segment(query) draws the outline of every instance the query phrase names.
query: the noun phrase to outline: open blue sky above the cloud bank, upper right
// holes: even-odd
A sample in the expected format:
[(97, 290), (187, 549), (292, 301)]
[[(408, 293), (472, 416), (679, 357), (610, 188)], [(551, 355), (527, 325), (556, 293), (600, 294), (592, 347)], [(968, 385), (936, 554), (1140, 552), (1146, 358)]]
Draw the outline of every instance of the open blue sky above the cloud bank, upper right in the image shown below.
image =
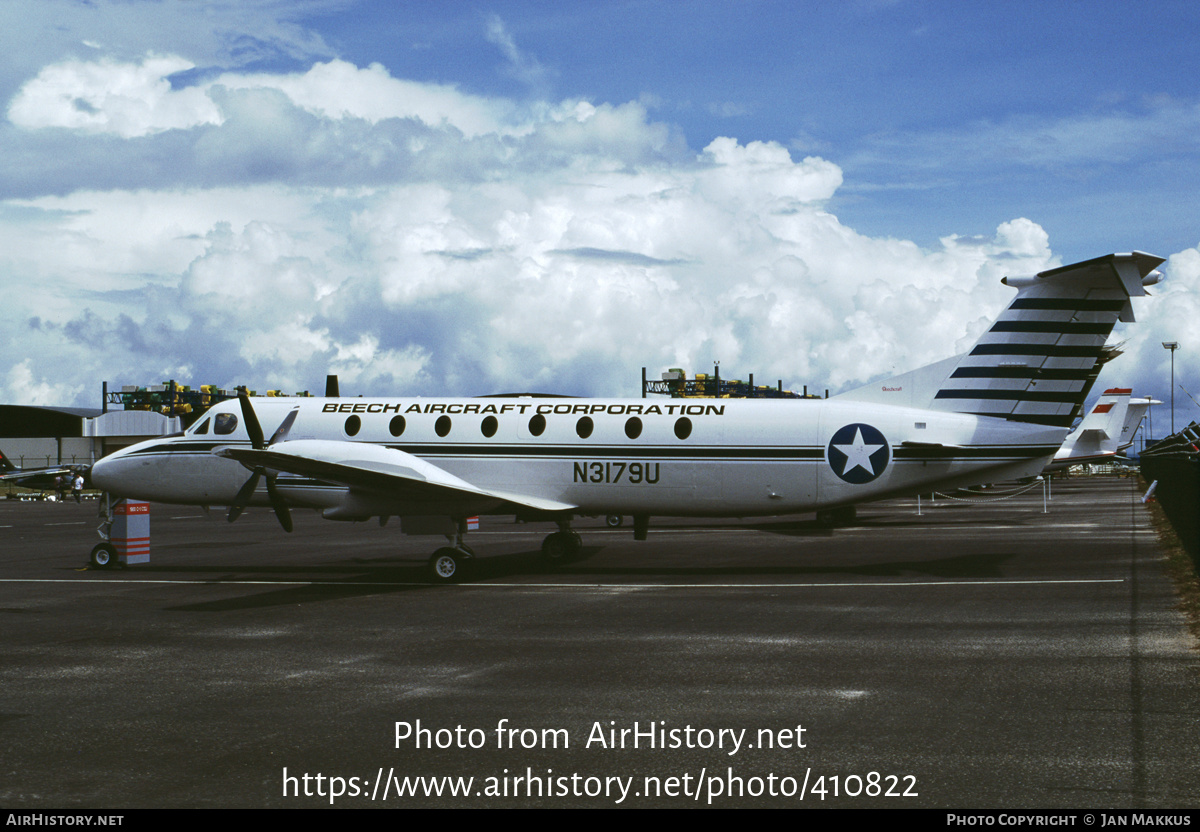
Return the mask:
[[(643, 100), (692, 146), (732, 134), (822, 155), (847, 175), (832, 208), (872, 235), (932, 245), (1037, 209), (1068, 261), (1196, 243), (1195, 4), (463, 4), (365, 23), (391, 7), (323, 34), (408, 78)], [(533, 78), (481, 48), (491, 14)]]

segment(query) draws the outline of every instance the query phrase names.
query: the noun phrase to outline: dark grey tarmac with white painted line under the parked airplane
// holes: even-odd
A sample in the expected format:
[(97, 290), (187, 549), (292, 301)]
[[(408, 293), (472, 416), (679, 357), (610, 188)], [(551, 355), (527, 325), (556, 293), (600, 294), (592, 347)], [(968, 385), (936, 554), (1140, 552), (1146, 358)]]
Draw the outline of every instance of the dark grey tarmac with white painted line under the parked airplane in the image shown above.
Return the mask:
[[(0, 807), (1200, 808), (1200, 653), (1132, 479), (769, 520), (0, 502)], [(628, 521), (626, 521), (628, 523)], [(440, 792), (440, 794), (438, 794)]]

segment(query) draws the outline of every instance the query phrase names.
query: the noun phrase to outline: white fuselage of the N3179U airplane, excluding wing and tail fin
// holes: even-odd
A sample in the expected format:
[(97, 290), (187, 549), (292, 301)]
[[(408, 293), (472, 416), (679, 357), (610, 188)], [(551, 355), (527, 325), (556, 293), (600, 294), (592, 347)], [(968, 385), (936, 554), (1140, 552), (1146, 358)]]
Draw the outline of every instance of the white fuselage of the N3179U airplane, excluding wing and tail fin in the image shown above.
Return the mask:
[[(1066, 433), (836, 399), (256, 399), (253, 406), (268, 432), (299, 408), (284, 445), (323, 443), (347, 459), (396, 449), (473, 486), (569, 504), (575, 514), (778, 515), (934, 484), (1000, 481), (1040, 472)], [(218, 405), (184, 435), (101, 460), (92, 480), (125, 497), (230, 504), (247, 469), (214, 450), (250, 445), (240, 415), (236, 401)], [(277, 486), (293, 505), (336, 509), (352, 501), (344, 485), (295, 473), (280, 473)], [(365, 515), (454, 513), (354, 491)], [(252, 503), (268, 504), (265, 487)], [(496, 499), (472, 508), (512, 513)]]

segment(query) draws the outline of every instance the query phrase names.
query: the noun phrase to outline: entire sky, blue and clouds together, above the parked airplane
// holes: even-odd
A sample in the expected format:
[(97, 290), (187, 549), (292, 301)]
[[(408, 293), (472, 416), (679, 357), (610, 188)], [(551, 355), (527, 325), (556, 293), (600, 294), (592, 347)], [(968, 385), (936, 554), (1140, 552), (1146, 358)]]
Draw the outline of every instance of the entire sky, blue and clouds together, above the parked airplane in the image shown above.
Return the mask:
[(8, 2), (0, 393), (847, 389), (1133, 249), (1195, 390), (1198, 10)]

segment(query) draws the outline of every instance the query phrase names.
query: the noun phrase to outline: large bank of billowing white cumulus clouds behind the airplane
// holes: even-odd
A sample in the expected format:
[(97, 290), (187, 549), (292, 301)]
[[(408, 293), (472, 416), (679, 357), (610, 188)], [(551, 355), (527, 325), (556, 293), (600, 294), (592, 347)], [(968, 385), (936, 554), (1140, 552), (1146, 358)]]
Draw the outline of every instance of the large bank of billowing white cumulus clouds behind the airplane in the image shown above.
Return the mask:
[[(11, 103), (10, 130), (73, 137), (110, 179), (0, 204), (0, 336), (40, 357), (10, 400), (326, 372), (365, 394), (636, 394), (641, 366), (714, 360), (839, 390), (960, 352), (1001, 276), (1060, 264), (1024, 217), (934, 247), (860, 234), (829, 210), (838, 164), (691, 150), (637, 102), (516, 104), (337, 60), (175, 89), (185, 64), (53, 65)], [(1170, 271), (1200, 282), (1200, 253)], [(1166, 298), (1147, 315), (1182, 325)]]

